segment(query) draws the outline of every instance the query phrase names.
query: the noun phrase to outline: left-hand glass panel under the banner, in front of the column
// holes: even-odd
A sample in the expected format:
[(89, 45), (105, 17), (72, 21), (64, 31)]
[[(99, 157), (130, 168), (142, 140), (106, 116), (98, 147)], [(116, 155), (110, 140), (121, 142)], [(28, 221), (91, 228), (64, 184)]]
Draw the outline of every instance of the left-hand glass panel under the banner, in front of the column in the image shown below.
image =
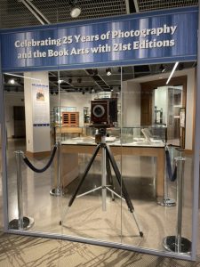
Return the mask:
[[(4, 113), (7, 135), (7, 182), (9, 228), (41, 232), (59, 232), (59, 198), (52, 199), (55, 170), (33, 171), (47, 165), (54, 147), (52, 95), (47, 71), (4, 74)], [(55, 81), (57, 83), (57, 80)], [(56, 91), (57, 95), (59, 89)], [(52, 101), (52, 97), (55, 97)], [(22, 151), (22, 152), (20, 152)], [(17, 159), (20, 157), (20, 170)], [(18, 173), (19, 171), (19, 173)], [(18, 175), (20, 174), (20, 175)], [(23, 224), (19, 226), (20, 219)]]

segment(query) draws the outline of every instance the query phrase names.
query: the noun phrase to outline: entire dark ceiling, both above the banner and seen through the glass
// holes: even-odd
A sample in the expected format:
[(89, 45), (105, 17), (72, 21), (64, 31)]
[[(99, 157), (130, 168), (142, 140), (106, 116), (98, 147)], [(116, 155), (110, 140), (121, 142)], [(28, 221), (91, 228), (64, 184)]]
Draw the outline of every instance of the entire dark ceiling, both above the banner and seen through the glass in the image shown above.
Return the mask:
[[(70, 17), (72, 4), (81, 7), (78, 18)], [(28, 5), (30, 4), (30, 5)], [(31, 5), (32, 4), (32, 5)], [(172, 7), (197, 5), (198, 0), (1, 0), (0, 28), (18, 28), (25, 26), (52, 24), (72, 20), (87, 20), (108, 16), (124, 15), (134, 12), (147, 12)], [(28, 7), (29, 6), (29, 7)], [(32, 6), (32, 9), (30, 9)], [(34, 9), (33, 9), (34, 6)], [(194, 67), (194, 62), (179, 64), (179, 69)], [(170, 72), (173, 64), (158, 64), (145, 66), (131, 66), (122, 69), (122, 79), (155, 75)], [(49, 72), (51, 93), (61, 92), (91, 93), (97, 91), (120, 90), (121, 69), (111, 68), (112, 75), (107, 76), (106, 69), (79, 69)], [(18, 74), (19, 75), (19, 74)], [(23, 76), (23, 74), (20, 74)], [(10, 83), (14, 78), (15, 84)], [(58, 83), (58, 80), (62, 82)], [(6, 91), (23, 91), (23, 78), (4, 75), (4, 89)]]

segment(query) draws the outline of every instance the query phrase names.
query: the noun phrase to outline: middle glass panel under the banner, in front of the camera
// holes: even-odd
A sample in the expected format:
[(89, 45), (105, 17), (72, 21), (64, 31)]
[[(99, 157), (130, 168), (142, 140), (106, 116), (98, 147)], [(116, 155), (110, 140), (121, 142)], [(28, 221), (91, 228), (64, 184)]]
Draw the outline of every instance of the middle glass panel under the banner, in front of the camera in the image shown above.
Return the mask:
[(116, 146), (111, 160), (120, 167), (120, 68), (112, 76), (106, 68), (65, 70), (60, 79), (63, 234), (119, 243), (121, 176), (107, 148)]

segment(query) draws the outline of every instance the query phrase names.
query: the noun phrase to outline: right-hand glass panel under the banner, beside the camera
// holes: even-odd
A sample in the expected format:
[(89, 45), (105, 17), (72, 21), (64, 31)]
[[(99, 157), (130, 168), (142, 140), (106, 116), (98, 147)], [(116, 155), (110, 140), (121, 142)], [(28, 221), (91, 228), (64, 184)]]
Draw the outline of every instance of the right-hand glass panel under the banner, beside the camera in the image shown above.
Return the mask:
[[(122, 242), (187, 253), (193, 196), (193, 137), (187, 117), (194, 116), (195, 69), (192, 62), (181, 64), (184, 70), (166, 84), (174, 64), (163, 65), (164, 72), (160, 65), (123, 68), (122, 179), (136, 218), (122, 209)], [(186, 239), (179, 243), (177, 236)]]

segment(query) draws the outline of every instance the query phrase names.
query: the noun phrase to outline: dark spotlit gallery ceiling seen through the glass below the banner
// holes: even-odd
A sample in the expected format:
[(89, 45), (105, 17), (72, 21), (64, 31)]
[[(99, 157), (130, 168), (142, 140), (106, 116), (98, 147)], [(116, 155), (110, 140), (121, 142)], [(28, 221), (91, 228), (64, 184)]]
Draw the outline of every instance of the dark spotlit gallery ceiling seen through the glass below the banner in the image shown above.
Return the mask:
[[(50, 93), (97, 93), (97, 92), (120, 92), (121, 82), (131, 80), (137, 77), (160, 75), (171, 73), (174, 64), (156, 64), (156, 65), (141, 65), (127, 67), (112, 67), (111, 75), (107, 75), (108, 68), (100, 69), (76, 69), (76, 70), (60, 70), (49, 72)], [(196, 62), (181, 62), (177, 70), (190, 69), (196, 66)], [(23, 76), (23, 73), (17, 73)], [(11, 79), (14, 79), (12, 85)], [(4, 74), (4, 90), (7, 92), (23, 92), (24, 78), (13, 77)]]

